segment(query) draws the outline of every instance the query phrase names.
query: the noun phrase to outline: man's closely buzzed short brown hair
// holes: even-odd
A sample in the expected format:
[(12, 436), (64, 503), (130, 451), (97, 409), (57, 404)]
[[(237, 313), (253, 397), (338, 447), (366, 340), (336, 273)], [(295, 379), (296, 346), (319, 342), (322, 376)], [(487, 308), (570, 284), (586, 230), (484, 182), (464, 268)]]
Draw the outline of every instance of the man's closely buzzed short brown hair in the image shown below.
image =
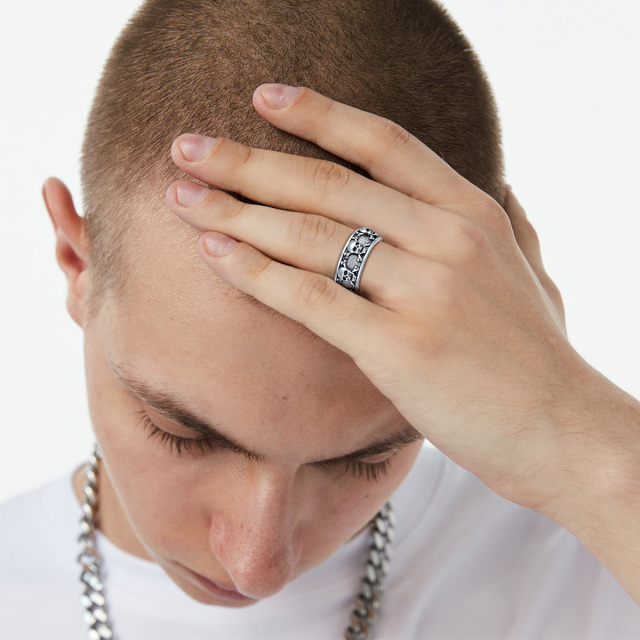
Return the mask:
[(491, 90), (437, 2), (147, 0), (113, 47), (84, 139), (93, 297), (122, 286), (144, 211), (162, 206), (181, 177), (169, 157), (179, 134), (339, 161), (255, 113), (251, 96), (264, 82), (311, 87), (389, 118), (503, 200)]

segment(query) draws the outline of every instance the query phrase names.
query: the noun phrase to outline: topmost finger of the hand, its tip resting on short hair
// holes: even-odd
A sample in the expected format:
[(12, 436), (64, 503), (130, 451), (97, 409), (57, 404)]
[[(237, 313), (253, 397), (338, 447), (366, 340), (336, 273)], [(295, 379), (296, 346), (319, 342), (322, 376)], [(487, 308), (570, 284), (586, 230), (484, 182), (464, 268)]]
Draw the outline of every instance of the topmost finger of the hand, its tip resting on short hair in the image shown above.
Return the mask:
[(253, 104), (279, 129), (314, 142), (362, 167), (377, 182), (412, 198), (455, 204), (471, 200), (479, 192), (399, 125), (311, 89), (261, 85)]

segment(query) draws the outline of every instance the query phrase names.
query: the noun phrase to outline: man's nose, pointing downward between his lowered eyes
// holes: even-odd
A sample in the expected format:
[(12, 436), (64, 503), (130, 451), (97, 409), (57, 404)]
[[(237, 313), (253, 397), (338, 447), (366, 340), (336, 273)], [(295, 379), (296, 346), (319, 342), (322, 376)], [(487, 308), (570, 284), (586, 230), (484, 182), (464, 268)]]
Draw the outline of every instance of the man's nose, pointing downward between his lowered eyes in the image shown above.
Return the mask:
[(291, 579), (300, 557), (293, 478), (252, 465), (211, 516), (211, 549), (236, 589), (267, 598)]

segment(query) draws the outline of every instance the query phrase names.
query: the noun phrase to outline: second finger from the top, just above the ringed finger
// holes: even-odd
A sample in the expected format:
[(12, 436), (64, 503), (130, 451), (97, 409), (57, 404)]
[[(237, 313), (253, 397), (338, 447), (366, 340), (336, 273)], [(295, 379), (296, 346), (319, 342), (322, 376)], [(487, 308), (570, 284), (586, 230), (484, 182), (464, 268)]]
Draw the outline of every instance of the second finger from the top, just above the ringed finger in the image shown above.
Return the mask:
[(424, 244), (433, 237), (441, 215), (430, 205), (326, 160), (194, 134), (178, 137), (172, 156), (181, 169), (219, 189), (280, 209), (329, 216), (352, 229), (367, 226), (395, 246)]

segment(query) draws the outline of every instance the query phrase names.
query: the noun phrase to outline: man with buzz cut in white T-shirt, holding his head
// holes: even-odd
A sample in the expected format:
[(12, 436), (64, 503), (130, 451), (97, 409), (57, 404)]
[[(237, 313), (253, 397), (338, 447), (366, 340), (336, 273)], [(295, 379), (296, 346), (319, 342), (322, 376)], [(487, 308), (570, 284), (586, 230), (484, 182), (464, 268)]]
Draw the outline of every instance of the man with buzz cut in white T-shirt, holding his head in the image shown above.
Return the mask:
[[(260, 87), (263, 122), (247, 96), (265, 75), (401, 122), (483, 191), (389, 121), (306, 89)], [(207, 135), (324, 155), (266, 122), (352, 170)], [(178, 138), (174, 166), (165, 151), (185, 131), (198, 135)], [(174, 182), (173, 217), (163, 195), (176, 166), (224, 191)], [(617, 516), (604, 497), (619, 471), (632, 505), (637, 403), (566, 342), (500, 167), (486, 84), (431, 3), (146, 3), (90, 118), (86, 223), (60, 182), (45, 187), (86, 336), (102, 461), (97, 482), (80, 472), (74, 485), (89, 533), (99, 519), (103, 572), (85, 556), (81, 585), (68, 561), (79, 507), (64, 485), (6, 506), (15, 525), (3, 548), (31, 554), (26, 567), (24, 554), (3, 559), (7, 634), (328, 638), (350, 626), (359, 637), (374, 618), (366, 585), (384, 578), (394, 495), (395, 557), (372, 635), (632, 637), (638, 609), (593, 557), (480, 482), (574, 525), (635, 592), (634, 572), (602, 550), (624, 536), (605, 522), (589, 535), (584, 493), (603, 520)], [(354, 295), (333, 272), (368, 225), (384, 243), (354, 238), (347, 262), (367, 258)], [(423, 450), (425, 436), (480, 480)], [(80, 587), (84, 621), (70, 603)], [(350, 620), (360, 592), (356, 609), (372, 610)], [(46, 607), (41, 627), (25, 623), (34, 601)]]

